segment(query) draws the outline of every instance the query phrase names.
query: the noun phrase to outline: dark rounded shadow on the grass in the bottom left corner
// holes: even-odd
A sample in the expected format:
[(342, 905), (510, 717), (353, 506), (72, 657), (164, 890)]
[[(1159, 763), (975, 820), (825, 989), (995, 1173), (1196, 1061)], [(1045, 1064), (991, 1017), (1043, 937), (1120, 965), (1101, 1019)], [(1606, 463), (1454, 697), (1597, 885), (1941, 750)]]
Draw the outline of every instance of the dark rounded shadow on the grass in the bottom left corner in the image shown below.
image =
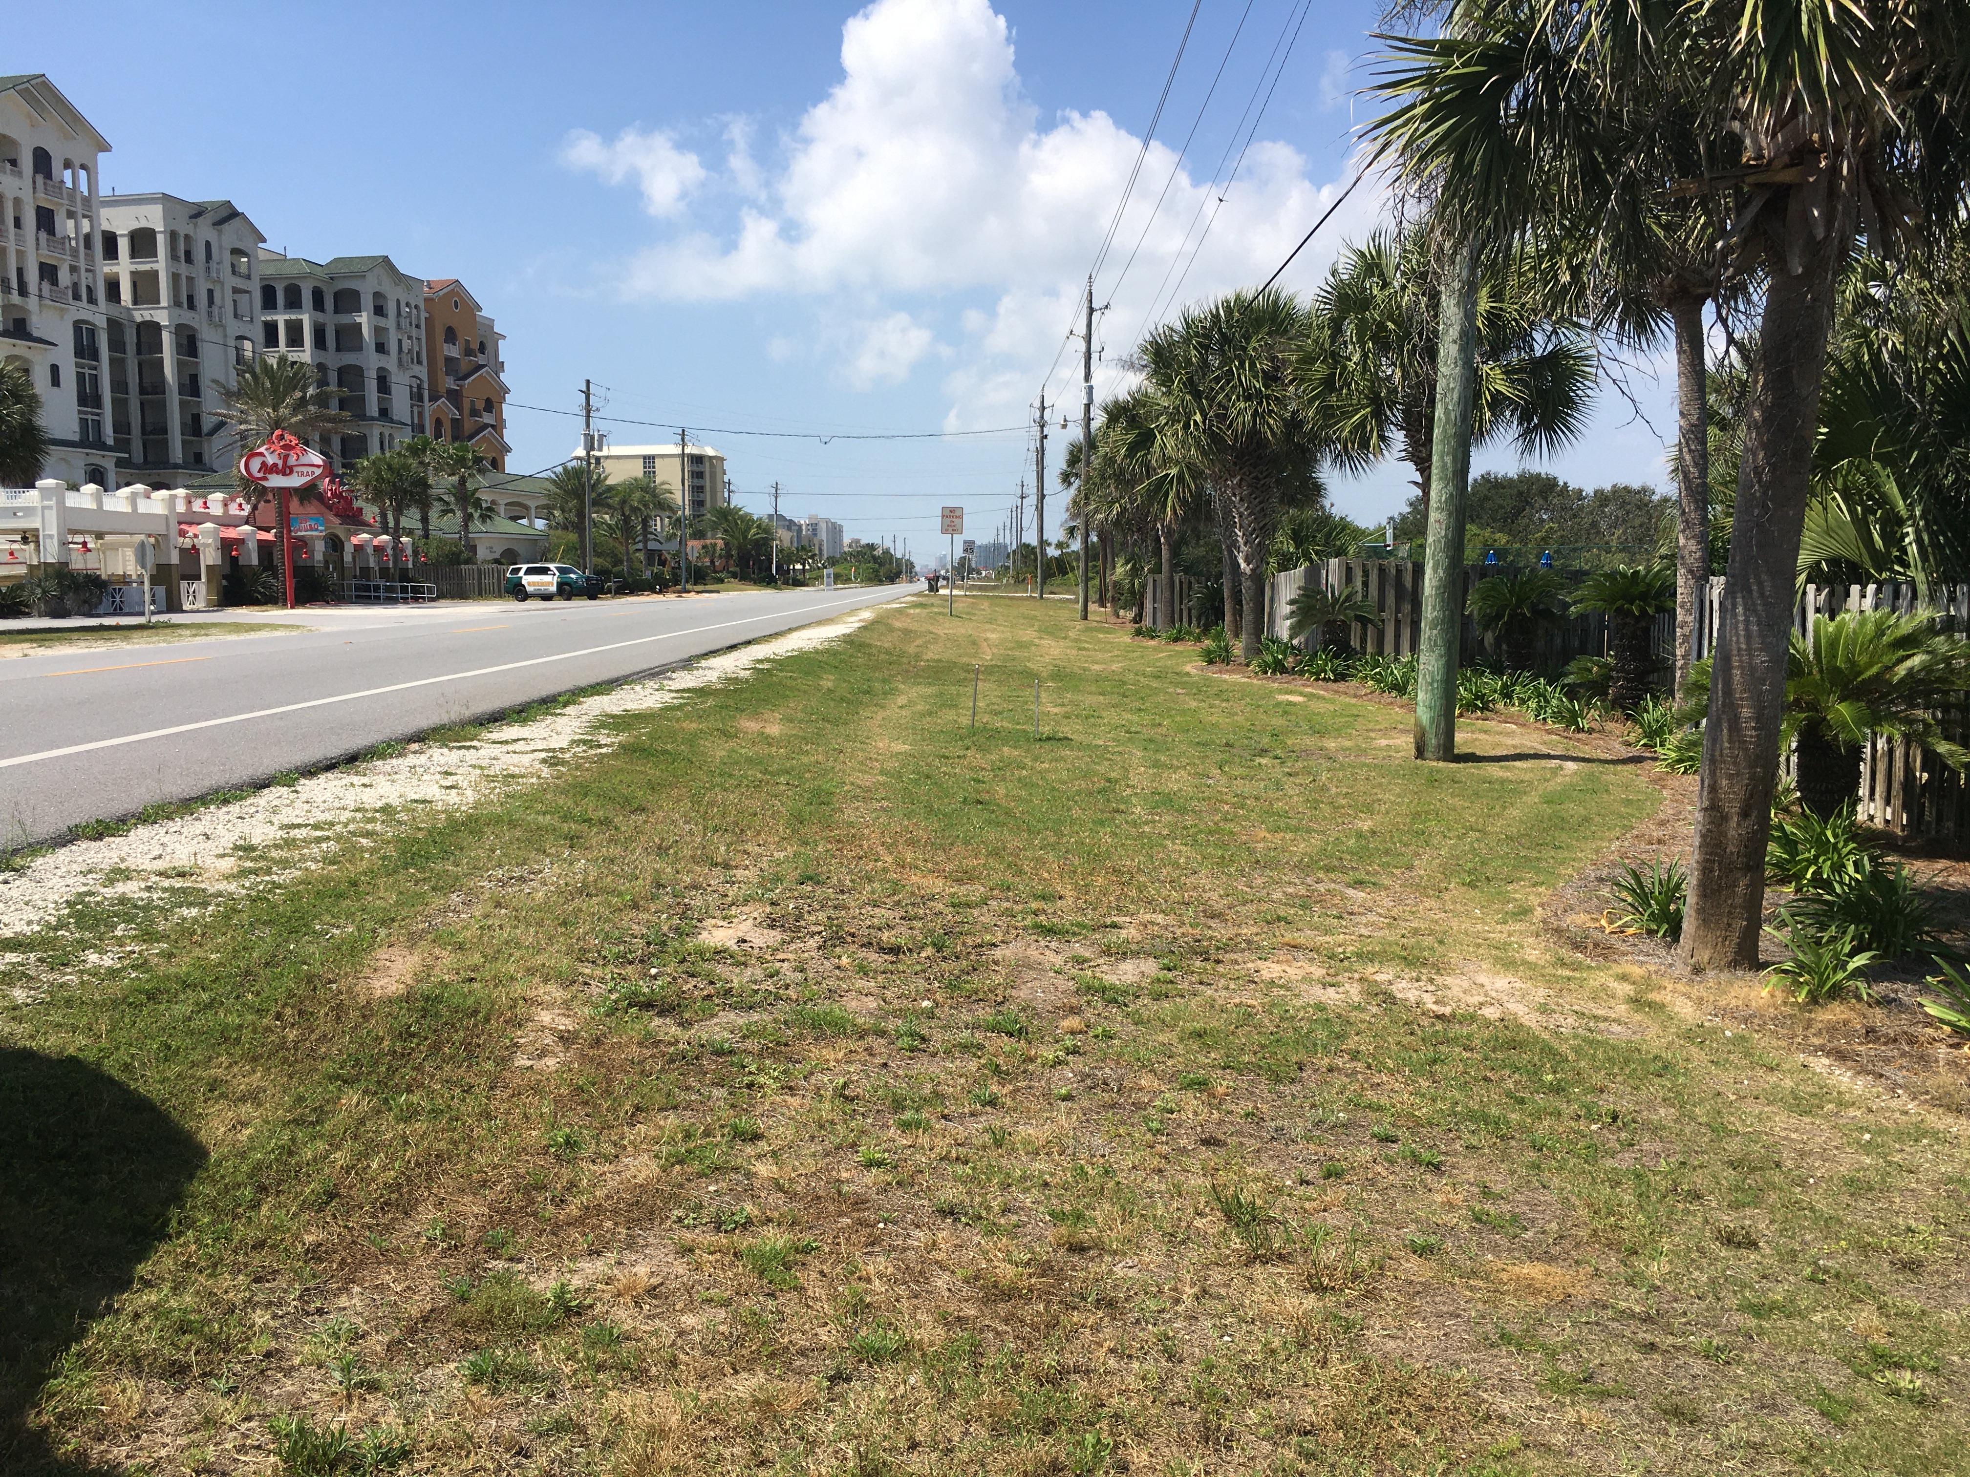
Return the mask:
[(28, 1412), (164, 1239), (205, 1146), (81, 1058), (0, 1050), (0, 1471), (100, 1469), (59, 1455)]

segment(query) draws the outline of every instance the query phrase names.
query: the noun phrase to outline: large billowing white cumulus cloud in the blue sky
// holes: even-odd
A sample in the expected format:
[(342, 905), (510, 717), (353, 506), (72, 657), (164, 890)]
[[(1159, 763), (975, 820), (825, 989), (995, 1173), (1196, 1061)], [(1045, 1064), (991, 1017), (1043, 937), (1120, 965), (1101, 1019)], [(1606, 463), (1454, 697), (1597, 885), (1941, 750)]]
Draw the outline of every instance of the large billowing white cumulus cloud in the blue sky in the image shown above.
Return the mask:
[[(1322, 93), (1344, 87), (1346, 57), (1324, 61)], [(654, 138), (664, 158), (697, 169), (668, 136), (624, 134), (617, 146), (577, 138), (593, 140), (597, 158)], [(843, 26), (841, 79), (774, 154), (756, 158), (743, 124), (727, 126), (727, 144), (721, 183), (733, 215), (705, 228), (693, 211), (688, 226), (664, 232), (628, 264), (630, 291), (804, 297), (816, 313), (812, 341), (839, 354), (839, 372), (859, 386), (908, 376), (938, 349), (942, 325), (953, 343), (938, 351), (953, 360), (944, 384), (953, 416), (971, 425), (1005, 423), (1032, 394), (1139, 156), (1095, 284), (1111, 303), (1101, 325), (1109, 360), (1172, 307), (1263, 282), (1342, 187), (1314, 181), (1279, 142), (1255, 142), (1223, 183), (1192, 175), (1192, 161), (1162, 144), (1145, 156), (1143, 140), (1105, 112), (1042, 118), (989, 0), (875, 0)], [(581, 167), (603, 171), (587, 156)], [(1363, 185), (1284, 286), (1316, 282), (1379, 205), (1381, 191)], [(859, 331), (823, 327), (845, 321)]]

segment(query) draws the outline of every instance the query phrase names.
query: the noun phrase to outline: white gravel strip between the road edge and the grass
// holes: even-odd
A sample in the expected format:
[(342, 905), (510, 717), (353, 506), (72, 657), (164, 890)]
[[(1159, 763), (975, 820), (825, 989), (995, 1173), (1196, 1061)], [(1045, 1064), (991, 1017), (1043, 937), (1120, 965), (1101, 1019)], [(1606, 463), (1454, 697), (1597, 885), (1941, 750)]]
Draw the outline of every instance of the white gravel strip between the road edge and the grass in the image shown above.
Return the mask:
[(392, 758), (345, 764), (309, 774), (296, 786), (270, 786), (173, 821), (57, 847), (24, 870), (0, 872), (0, 939), (47, 928), (83, 894), (144, 896), (158, 888), (225, 894), (248, 882), (264, 886), (266, 872), (238, 876), (240, 849), (278, 845), (278, 863), (297, 870), (325, 861), (353, 827), (376, 821), (384, 811), (457, 809), (512, 786), (534, 784), (556, 772), (550, 764), (556, 756), (615, 746), (615, 735), (599, 719), (666, 707), (684, 693), (731, 681), (762, 662), (825, 646), (873, 618), (877, 609), (851, 610), (719, 652), (660, 677), (585, 697), (532, 723), (504, 723), (469, 744), (416, 742)]

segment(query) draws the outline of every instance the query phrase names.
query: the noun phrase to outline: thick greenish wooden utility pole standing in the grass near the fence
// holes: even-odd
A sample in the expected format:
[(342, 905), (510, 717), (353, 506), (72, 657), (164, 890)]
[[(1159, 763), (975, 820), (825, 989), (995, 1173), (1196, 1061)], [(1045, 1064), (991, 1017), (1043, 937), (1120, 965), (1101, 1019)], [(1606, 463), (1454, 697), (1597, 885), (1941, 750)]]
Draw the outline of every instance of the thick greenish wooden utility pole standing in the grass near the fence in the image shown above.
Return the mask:
[(1446, 262), (1436, 345), (1436, 437), (1422, 551), (1422, 630), (1416, 640), (1416, 758), (1448, 762), (1458, 752), (1464, 492), (1472, 475), (1472, 394), (1478, 378), (1478, 244), (1472, 240), (1460, 242)]

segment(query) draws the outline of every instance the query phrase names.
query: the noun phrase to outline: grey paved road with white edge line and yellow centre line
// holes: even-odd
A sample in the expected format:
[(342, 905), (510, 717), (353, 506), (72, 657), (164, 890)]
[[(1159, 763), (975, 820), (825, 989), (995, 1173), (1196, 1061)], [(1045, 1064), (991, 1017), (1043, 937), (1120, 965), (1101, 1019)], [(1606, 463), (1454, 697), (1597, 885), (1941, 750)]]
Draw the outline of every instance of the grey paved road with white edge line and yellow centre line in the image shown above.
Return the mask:
[[(311, 630), (0, 662), (0, 849), (920, 591), (297, 610)], [(270, 618), (270, 616), (262, 616)]]

